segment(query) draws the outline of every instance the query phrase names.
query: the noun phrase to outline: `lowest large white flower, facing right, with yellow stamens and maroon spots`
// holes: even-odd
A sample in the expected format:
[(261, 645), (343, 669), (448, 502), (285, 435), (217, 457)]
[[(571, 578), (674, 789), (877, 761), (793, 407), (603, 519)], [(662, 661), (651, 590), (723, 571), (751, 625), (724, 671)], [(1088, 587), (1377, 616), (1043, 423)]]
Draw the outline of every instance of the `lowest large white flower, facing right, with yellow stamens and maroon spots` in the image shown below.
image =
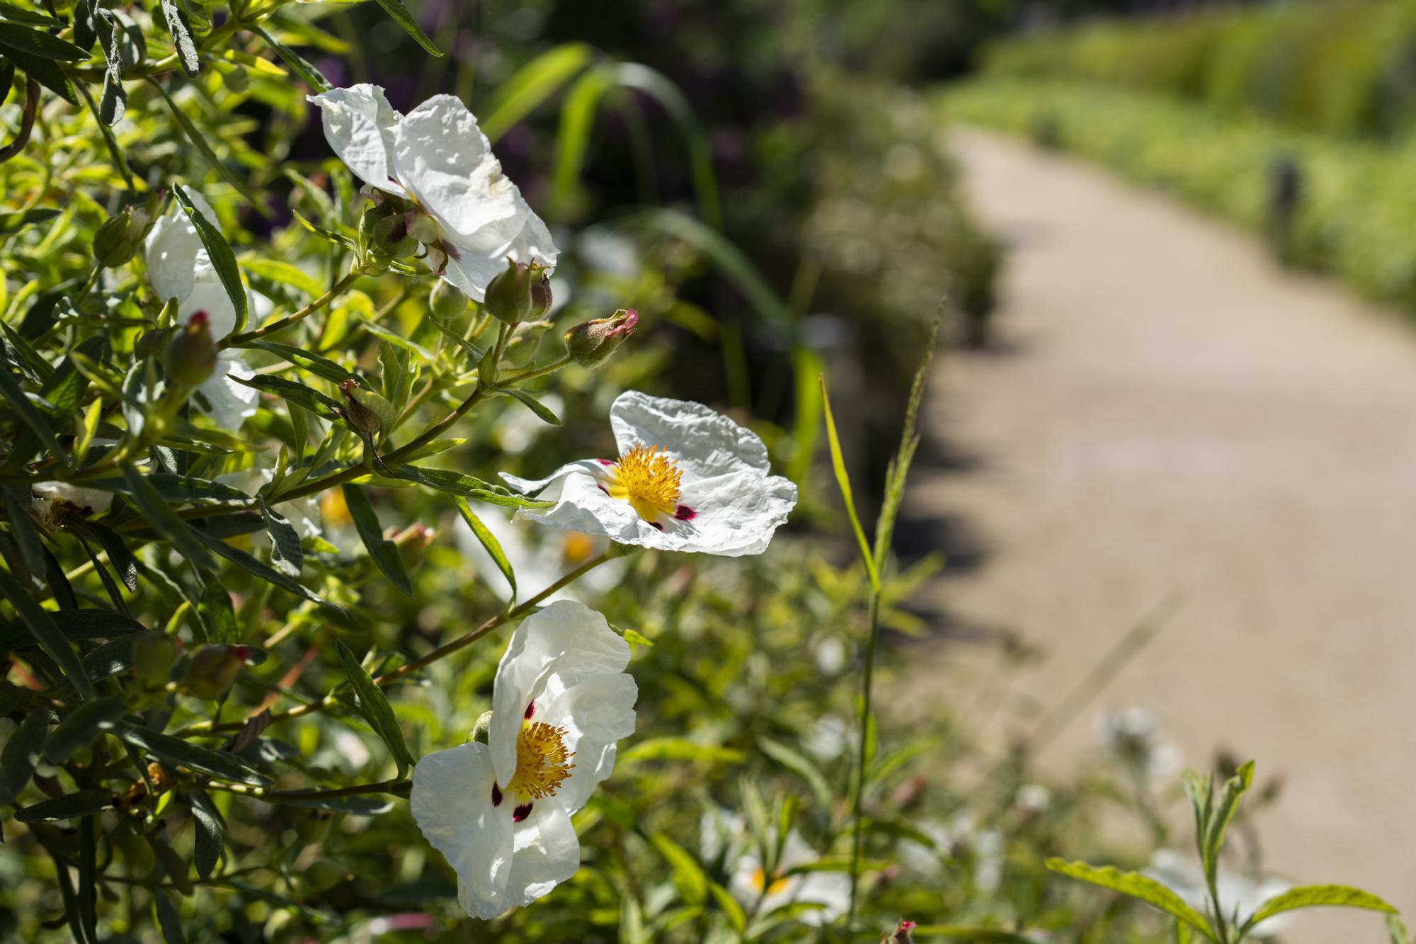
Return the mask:
[(467, 914), (530, 904), (581, 866), (571, 814), (615, 767), (634, 733), (639, 689), (629, 644), (605, 617), (561, 601), (511, 635), (491, 695), (487, 743), (428, 754), (409, 805), (457, 873)]

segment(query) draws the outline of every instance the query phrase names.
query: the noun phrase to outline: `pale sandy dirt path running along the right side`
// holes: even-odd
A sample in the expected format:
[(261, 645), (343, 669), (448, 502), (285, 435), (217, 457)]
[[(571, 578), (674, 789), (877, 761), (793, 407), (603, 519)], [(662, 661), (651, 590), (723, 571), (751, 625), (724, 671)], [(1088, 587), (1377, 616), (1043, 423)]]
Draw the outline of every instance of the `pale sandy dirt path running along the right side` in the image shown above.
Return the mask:
[[(1148, 706), (1192, 764), (1223, 744), (1283, 774), (1270, 867), (1416, 913), (1416, 330), (1090, 166), (953, 147), (1011, 254), (997, 350), (932, 377), (926, 437), (961, 462), (920, 468), (908, 512), (966, 551), (925, 602), (1045, 651), (995, 727), (1025, 731), (1178, 597), (1044, 761), (1080, 763), (1097, 709)], [(1310, 914), (1286, 941), (1386, 940)]]

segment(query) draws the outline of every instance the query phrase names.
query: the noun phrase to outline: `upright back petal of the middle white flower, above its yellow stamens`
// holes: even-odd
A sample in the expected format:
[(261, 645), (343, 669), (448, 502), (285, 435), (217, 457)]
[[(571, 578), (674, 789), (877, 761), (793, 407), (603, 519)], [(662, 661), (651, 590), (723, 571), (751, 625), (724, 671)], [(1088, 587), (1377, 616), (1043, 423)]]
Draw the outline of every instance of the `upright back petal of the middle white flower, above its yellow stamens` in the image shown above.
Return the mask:
[(766, 475), (770, 469), (767, 448), (756, 432), (692, 400), (622, 393), (610, 407), (610, 428), (620, 455), (639, 444), (664, 446), (684, 482), (729, 472)]

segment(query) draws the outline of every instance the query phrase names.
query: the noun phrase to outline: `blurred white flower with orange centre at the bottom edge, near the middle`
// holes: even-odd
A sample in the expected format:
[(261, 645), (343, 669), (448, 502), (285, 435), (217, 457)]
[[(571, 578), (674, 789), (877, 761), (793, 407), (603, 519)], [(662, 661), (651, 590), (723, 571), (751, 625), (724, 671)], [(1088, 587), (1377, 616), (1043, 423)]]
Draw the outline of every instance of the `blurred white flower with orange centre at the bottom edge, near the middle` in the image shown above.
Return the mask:
[[(851, 877), (841, 872), (803, 872), (787, 875), (792, 869), (810, 865), (820, 859), (814, 849), (792, 829), (782, 843), (782, 856), (772, 875), (763, 867), (759, 850), (748, 836), (742, 816), (729, 811), (704, 814), (700, 822), (701, 850), (705, 859), (724, 855), (724, 867), (731, 872), (728, 889), (733, 897), (752, 907), (760, 906), (760, 914), (770, 914), (789, 904), (820, 904), (818, 909), (803, 911), (797, 921), (811, 927), (830, 924), (851, 907)], [(767, 836), (776, 843), (776, 835)]]

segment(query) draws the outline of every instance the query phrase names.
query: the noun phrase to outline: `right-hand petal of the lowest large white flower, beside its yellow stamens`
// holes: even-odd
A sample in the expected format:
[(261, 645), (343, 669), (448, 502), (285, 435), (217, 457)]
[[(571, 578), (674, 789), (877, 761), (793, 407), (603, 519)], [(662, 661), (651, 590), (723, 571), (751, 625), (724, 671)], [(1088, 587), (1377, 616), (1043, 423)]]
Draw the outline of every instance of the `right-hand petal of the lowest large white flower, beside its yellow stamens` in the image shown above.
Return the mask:
[(565, 730), (562, 743), (575, 751), (575, 768), (555, 798), (569, 812), (589, 801), (615, 770), (615, 744), (634, 733), (639, 686), (624, 672), (592, 675), (537, 712), (537, 720)]

